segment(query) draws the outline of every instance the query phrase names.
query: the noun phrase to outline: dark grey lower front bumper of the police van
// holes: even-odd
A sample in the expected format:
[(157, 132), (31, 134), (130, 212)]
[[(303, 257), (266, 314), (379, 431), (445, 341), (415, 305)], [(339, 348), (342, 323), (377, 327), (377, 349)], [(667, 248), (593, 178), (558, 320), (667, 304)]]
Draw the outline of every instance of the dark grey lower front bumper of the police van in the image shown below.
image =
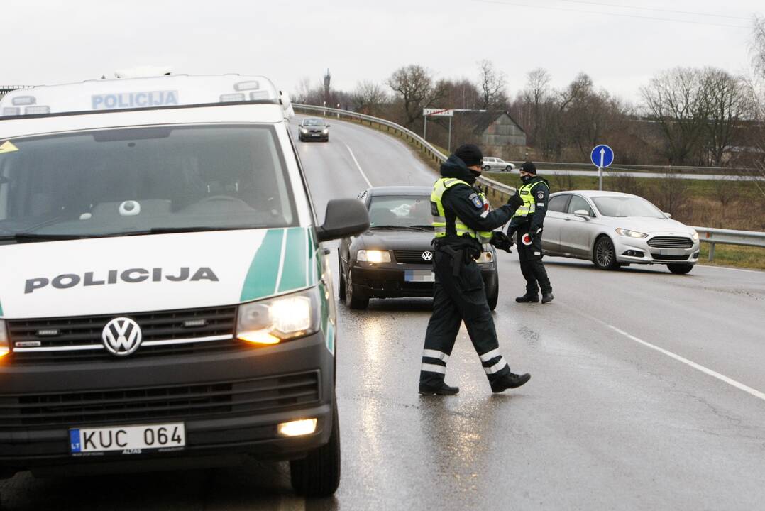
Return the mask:
[[(297, 459), (329, 441), (334, 355), (318, 333), (216, 354), (0, 366), (0, 470), (86, 465), (172, 467), (189, 458)], [(317, 418), (311, 435), (277, 425)], [(70, 428), (184, 422), (186, 447), (152, 454), (70, 454)], [(119, 453), (119, 451), (117, 451)], [(143, 470), (143, 469), (142, 469)]]

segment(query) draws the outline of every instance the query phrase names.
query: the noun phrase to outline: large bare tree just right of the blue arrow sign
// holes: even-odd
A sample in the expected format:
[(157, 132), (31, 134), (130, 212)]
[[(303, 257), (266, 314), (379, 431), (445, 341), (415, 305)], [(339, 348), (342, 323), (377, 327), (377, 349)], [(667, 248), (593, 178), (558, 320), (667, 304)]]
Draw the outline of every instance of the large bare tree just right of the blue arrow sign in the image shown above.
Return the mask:
[(654, 76), (640, 90), (649, 116), (664, 135), (664, 155), (670, 164), (685, 164), (704, 132), (707, 101), (701, 73), (676, 67)]

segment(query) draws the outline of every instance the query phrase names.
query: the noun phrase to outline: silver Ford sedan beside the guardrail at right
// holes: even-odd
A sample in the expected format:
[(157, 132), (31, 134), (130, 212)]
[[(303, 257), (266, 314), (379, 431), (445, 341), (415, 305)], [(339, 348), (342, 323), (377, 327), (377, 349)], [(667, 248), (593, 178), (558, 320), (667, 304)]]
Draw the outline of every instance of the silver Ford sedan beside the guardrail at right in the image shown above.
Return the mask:
[(551, 194), (542, 231), (545, 254), (589, 259), (601, 269), (663, 264), (685, 274), (698, 262), (698, 233), (643, 197), (572, 190)]

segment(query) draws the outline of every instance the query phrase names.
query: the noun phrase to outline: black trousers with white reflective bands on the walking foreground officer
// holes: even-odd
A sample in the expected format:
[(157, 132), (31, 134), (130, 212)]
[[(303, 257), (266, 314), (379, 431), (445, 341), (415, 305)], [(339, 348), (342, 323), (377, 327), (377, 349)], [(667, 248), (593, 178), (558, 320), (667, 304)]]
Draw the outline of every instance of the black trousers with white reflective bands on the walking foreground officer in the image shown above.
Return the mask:
[[(460, 259), (457, 262), (459, 275), (454, 275), (454, 258)], [(478, 265), (442, 249), (435, 250), (433, 259), (433, 314), (425, 333), (420, 383), (438, 386), (444, 381), (446, 363), (463, 321), (489, 381), (509, 374), (510, 366), (500, 354)]]

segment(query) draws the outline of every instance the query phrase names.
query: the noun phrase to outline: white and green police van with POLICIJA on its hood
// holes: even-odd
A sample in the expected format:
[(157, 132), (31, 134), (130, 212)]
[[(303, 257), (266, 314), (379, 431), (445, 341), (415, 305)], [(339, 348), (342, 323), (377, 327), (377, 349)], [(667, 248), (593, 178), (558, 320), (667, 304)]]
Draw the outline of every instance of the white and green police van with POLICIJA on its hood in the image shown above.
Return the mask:
[(0, 99), (0, 470), (289, 460), (340, 480), (323, 225), (263, 76), (154, 76)]

